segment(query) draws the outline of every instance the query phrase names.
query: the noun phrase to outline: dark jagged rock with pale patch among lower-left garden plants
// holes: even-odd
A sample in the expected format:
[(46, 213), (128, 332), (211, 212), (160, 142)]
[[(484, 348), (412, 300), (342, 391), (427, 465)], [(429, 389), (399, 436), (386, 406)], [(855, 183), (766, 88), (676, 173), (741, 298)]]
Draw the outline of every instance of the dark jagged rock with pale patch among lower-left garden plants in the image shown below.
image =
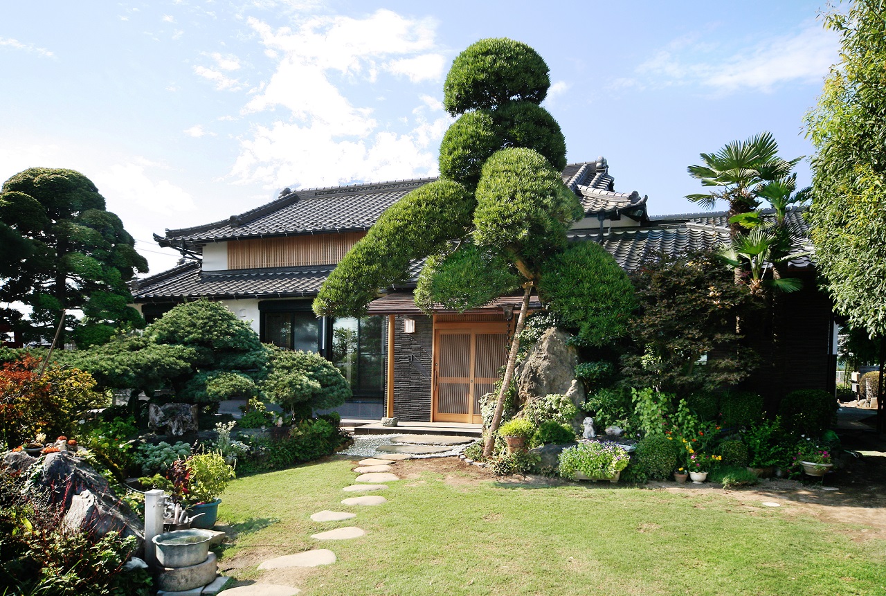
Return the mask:
[(112, 530), (122, 536), (135, 536), (136, 552), (144, 543), (143, 522), (114, 494), (105, 477), (81, 457), (66, 452), (50, 453), (29, 490), (64, 507), (64, 524), (68, 528), (95, 531), (98, 536)]

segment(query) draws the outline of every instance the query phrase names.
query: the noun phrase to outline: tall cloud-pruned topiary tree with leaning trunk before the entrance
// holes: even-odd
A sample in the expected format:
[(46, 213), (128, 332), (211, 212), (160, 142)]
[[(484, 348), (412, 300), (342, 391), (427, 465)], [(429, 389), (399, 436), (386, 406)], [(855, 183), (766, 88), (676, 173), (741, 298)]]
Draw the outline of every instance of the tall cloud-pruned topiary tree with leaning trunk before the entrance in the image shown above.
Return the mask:
[[(487, 455), (513, 380), (517, 337), (532, 291), (551, 259), (566, 249), (571, 223), (584, 214), (579, 197), (560, 176), (566, 165), (563, 133), (539, 105), (549, 86), (548, 66), (525, 43), (484, 39), (462, 51), (443, 89), (447, 112), (459, 118), (440, 144), (440, 180), (388, 209), (339, 263), (314, 303), (317, 314), (359, 316), (379, 289), (405, 280), (416, 259), (427, 259), (416, 288), (416, 304), (426, 311), (443, 304), (463, 312), (522, 287)], [(567, 275), (581, 271), (587, 279), (598, 270), (602, 279), (620, 275), (626, 290), (618, 292), (618, 300), (605, 292), (590, 298), (612, 314), (613, 324), (606, 332), (589, 332), (589, 341), (597, 344), (623, 333), (633, 306), (624, 272), (608, 254), (578, 251), (572, 257), (556, 270)], [(587, 267), (573, 263), (583, 258)], [(579, 328), (593, 327), (584, 325), (579, 313), (575, 319), (581, 320)]]

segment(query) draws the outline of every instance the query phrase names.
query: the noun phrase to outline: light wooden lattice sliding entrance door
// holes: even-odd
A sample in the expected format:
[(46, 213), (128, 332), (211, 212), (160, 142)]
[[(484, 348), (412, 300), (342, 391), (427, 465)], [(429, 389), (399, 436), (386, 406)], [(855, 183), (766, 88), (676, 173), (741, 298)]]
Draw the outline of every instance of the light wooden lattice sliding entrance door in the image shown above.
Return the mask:
[(438, 323), (434, 330), (435, 422), (483, 422), (480, 398), (508, 361), (508, 324)]

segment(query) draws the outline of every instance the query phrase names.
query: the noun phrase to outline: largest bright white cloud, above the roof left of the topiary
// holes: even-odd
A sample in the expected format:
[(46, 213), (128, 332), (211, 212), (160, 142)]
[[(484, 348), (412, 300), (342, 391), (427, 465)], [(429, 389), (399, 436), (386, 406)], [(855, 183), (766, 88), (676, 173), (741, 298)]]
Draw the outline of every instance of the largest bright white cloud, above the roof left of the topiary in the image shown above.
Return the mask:
[(420, 96), (412, 118), (386, 125), (369, 104), (377, 95), (362, 94), (354, 104), (332, 78), (349, 86), (376, 81), (379, 73), (413, 83), (439, 79), (445, 60), (433, 51), (430, 20), (380, 10), (365, 19), (311, 17), (295, 28), (248, 23), (276, 60), (276, 72), (250, 90), (242, 112), (253, 122), (278, 108), (286, 116), (275, 112), (275, 120), (255, 124), (240, 139), (231, 169), (237, 182), (305, 187), (437, 173), (435, 143), (451, 121), (439, 100)]

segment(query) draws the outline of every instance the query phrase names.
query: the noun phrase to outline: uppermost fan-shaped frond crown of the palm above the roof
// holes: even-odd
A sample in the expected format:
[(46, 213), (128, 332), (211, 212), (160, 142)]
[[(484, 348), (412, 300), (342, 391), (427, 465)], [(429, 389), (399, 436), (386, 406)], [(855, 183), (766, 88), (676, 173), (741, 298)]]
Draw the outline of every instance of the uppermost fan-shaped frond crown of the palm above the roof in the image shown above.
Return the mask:
[(713, 208), (717, 201), (729, 204), (731, 236), (741, 234), (741, 224), (731, 221), (736, 215), (749, 213), (759, 205), (760, 191), (767, 184), (789, 177), (790, 170), (802, 158), (785, 160), (778, 157), (778, 143), (772, 133), (764, 132), (745, 141), (732, 141), (716, 153), (702, 153), (703, 166), (688, 166), (689, 175), (714, 187), (707, 194), (687, 195), (693, 203)]

